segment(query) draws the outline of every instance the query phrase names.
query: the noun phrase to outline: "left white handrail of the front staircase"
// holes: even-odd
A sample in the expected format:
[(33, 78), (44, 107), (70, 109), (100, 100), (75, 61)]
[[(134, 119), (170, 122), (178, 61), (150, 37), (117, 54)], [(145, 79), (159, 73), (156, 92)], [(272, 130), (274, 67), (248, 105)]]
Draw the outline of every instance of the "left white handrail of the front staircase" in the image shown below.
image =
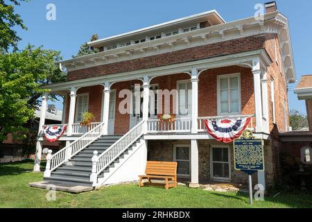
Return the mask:
[(101, 137), (103, 134), (103, 126), (105, 123), (101, 123), (100, 125), (96, 126), (89, 132), (85, 133), (85, 135), (79, 137), (74, 142), (62, 148), (62, 150), (58, 151), (51, 156), (51, 169), (50, 172), (54, 169), (60, 167), (60, 165), (67, 162), (71, 157), (82, 151), (84, 148), (92, 144), (96, 139)]

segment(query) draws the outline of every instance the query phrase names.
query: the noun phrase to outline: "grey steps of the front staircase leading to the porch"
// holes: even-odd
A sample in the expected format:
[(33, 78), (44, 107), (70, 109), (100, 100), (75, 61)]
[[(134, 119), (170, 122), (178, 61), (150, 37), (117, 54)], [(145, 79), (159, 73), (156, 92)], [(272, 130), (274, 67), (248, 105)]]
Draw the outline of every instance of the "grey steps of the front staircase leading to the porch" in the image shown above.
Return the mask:
[[(76, 185), (84, 187), (92, 187), (92, 181), (90, 181), (90, 175), (92, 173), (92, 156), (94, 151), (98, 151), (98, 155), (101, 155), (107, 150), (114, 142), (116, 142), (121, 136), (102, 136), (95, 142), (87, 146), (80, 151), (77, 155), (74, 155), (69, 162), (62, 164), (62, 166), (51, 172), (51, 177), (44, 177), (44, 182), (51, 182), (55, 185)], [(131, 148), (130, 148), (131, 149)], [(110, 164), (105, 171), (109, 172), (110, 168), (114, 167), (114, 164), (118, 163), (121, 158), (128, 151), (125, 151), (120, 155), (112, 164)]]

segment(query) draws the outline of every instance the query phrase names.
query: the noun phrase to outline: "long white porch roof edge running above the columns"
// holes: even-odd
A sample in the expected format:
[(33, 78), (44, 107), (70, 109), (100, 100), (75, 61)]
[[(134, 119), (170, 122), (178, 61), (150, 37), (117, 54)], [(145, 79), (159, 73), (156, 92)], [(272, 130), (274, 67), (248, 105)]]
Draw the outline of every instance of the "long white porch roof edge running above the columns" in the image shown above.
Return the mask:
[(51, 89), (51, 92), (60, 92), (67, 90), (69, 87), (89, 87), (92, 85), (101, 85), (104, 82), (116, 83), (126, 80), (134, 80), (148, 76), (166, 76), (171, 74), (180, 74), (191, 71), (193, 67), (198, 70), (214, 69), (218, 67), (227, 67), (232, 65), (252, 65), (254, 59), (259, 59), (264, 66), (270, 66), (272, 61), (265, 50), (248, 51), (245, 53), (236, 53), (228, 56), (218, 56), (209, 59), (196, 60), (192, 62), (183, 62), (174, 65), (166, 65), (150, 69), (139, 69), (135, 71), (127, 71), (119, 74), (110, 74), (105, 76), (97, 76), (93, 78), (85, 78), (79, 80), (67, 81), (64, 83), (56, 83), (51, 85), (43, 85), (43, 89)]

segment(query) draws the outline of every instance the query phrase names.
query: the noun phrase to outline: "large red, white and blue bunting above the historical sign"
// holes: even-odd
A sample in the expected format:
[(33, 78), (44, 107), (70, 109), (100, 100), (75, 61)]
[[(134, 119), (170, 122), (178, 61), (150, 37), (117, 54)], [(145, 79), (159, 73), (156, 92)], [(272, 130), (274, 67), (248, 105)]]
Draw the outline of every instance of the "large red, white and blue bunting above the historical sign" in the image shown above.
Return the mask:
[(218, 142), (229, 144), (241, 137), (243, 131), (248, 127), (251, 117), (240, 119), (205, 119), (208, 133)]

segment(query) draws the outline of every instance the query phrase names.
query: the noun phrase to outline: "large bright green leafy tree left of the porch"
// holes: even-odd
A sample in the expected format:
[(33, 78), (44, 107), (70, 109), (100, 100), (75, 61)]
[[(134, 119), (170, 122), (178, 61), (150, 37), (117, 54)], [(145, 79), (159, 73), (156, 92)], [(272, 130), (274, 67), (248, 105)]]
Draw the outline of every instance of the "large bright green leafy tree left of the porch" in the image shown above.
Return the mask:
[(40, 85), (66, 80), (57, 65), (61, 59), (60, 52), (42, 46), (0, 53), (0, 144), (8, 133), (35, 117), (38, 99), (45, 92)]

